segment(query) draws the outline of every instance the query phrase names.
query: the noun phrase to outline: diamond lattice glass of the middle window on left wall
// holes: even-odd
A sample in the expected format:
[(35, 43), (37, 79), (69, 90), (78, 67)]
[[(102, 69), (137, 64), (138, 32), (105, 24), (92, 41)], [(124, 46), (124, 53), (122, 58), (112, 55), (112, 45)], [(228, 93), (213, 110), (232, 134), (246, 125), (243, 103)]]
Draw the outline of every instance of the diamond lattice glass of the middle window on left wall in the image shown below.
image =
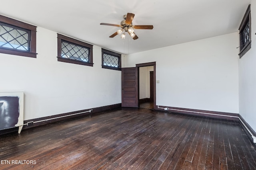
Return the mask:
[(61, 57), (77, 61), (89, 62), (89, 49), (62, 41)]

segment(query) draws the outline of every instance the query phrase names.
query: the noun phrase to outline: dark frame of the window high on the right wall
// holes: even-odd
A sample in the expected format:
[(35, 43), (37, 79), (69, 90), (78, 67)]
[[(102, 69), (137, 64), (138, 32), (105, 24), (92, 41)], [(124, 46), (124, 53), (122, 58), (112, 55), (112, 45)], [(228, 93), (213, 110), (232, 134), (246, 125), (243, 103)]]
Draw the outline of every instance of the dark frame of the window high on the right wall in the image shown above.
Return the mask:
[[(243, 31), (244, 29), (247, 27), (249, 23), (249, 41), (244, 44), (244, 36), (243, 36)], [(246, 10), (246, 13), (244, 14), (244, 18), (240, 24), (240, 27), (239, 27), (239, 41), (240, 41), (240, 44), (239, 44), (239, 47), (240, 47), (240, 53), (238, 54), (240, 59), (241, 57), (243, 57), (243, 55), (249, 51), (249, 49), (251, 48), (251, 32), (252, 32), (252, 29), (251, 29), (251, 25), (252, 25), (252, 20), (251, 20), (251, 5), (248, 6), (247, 10)]]

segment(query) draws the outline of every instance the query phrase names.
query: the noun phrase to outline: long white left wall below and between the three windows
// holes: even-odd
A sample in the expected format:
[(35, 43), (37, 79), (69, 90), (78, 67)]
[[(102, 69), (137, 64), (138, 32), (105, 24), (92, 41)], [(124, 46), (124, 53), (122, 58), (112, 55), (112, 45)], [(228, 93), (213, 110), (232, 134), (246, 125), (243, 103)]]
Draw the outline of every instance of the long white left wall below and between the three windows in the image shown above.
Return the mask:
[(57, 33), (37, 27), (37, 58), (0, 53), (0, 90), (24, 90), (24, 120), (121, 103), (121, 71), (57, 61)]

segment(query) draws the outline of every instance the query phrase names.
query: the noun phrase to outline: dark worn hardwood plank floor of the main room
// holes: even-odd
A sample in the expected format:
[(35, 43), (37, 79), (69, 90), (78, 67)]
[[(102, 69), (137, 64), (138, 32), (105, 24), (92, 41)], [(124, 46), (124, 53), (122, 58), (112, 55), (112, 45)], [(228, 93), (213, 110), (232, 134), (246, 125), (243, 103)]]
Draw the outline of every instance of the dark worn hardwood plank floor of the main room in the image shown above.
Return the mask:
[(1, 135), (0, 169), (255, 170), (255, 148), (238, 121), (122, 108)]

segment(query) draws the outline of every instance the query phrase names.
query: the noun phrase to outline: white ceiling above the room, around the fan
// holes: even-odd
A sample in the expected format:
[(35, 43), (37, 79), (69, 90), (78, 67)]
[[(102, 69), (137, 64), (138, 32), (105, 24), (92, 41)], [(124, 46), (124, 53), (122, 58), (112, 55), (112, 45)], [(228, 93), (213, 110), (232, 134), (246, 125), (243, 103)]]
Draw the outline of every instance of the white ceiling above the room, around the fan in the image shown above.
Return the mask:
[[(251, 0), (5, 0), (0, 14), (122, 54), (238, 31)], [(117, 35), (122, 16), (134, 13), (139, 39)]]

